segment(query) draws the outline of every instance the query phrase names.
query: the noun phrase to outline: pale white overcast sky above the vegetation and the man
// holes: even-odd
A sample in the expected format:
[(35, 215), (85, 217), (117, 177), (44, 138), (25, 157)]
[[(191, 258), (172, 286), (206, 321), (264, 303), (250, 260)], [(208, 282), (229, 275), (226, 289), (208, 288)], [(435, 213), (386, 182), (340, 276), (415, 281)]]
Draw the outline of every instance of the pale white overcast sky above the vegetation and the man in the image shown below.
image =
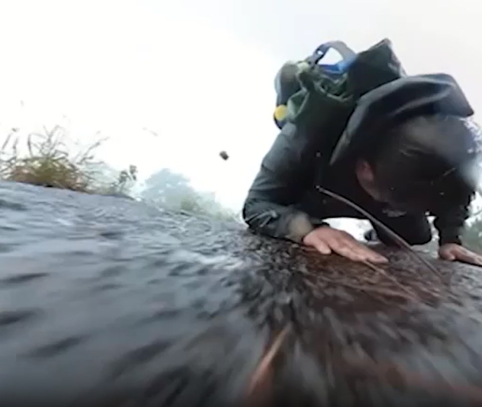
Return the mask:
[(114, 167), (172, 168), (238, 209), (276, 137), (284, 61), (328, 40), (359, 51), (388, 37), (408, 73), (454, 75), (479, 111), (481, 4), (3, 0), (0, 138), (62, 124), (88, 143), (101, 131)]

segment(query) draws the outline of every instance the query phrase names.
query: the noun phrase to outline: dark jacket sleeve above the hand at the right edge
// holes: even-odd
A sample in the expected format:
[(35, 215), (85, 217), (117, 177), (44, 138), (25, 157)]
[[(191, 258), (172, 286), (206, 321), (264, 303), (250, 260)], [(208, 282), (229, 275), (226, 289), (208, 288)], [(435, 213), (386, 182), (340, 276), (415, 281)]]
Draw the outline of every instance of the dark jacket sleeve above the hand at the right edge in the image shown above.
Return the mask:
[(456, 206), (450, 211), (435, 215), (433, 225), (438, 231), (439, 245), (446, 243), (462, 243), (462, 233), (465, 221), (469, 216), (469, 206), (472, 196), (468, 196), (464, 204)]

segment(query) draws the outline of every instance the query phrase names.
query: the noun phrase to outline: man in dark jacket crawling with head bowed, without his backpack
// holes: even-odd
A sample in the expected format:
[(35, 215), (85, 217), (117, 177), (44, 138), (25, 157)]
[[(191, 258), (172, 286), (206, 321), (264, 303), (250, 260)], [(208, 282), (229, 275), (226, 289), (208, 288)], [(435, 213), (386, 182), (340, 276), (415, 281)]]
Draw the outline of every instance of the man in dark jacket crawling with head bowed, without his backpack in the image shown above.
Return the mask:
[[(243, 217), (251, 229), (355, 261), (387, 259), (327, 218), (364, 218), (319, 191), (322, 187), (364, 208), (409, 244), (432, 239), (435, 216), (439, 255), (482, 265), (461, 245), (468, 207), (476, 191), (480, 138), (473, 111), (448, 75), (404, 76), (360, 98), (336, 147), (314, 149), (307, 131), (281, 129), (250, 188)], [(395, 244), (377, 224), (381, 242)]]

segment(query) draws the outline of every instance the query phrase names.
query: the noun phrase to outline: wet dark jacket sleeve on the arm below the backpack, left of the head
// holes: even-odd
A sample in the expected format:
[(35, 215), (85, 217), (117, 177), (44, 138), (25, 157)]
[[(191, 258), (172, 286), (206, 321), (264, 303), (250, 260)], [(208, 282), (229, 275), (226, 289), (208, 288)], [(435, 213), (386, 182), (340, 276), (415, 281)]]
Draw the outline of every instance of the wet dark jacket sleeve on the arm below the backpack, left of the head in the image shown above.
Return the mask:
[(313, 182), (315, 153), (294, 124), (282, 128), (263, 158), (243, 207), (243, 218), (252, 230), (301, 242), (314, 227), (325, 224), (296, 207)]

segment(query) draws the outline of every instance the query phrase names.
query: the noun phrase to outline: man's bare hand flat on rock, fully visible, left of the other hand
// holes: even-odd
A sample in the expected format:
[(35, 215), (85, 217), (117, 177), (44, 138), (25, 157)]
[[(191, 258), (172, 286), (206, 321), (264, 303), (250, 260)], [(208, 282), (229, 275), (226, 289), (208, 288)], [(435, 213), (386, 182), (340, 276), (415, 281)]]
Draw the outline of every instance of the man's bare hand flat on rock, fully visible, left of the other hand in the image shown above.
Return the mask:
[(335, 252), (353, 261), (388, 262), (387, 258), (358, 242), (349, 233), (329, 226), (320, 226), (312, 230), (303, 238), (303, 243), (314, 247), (321, 254)]

